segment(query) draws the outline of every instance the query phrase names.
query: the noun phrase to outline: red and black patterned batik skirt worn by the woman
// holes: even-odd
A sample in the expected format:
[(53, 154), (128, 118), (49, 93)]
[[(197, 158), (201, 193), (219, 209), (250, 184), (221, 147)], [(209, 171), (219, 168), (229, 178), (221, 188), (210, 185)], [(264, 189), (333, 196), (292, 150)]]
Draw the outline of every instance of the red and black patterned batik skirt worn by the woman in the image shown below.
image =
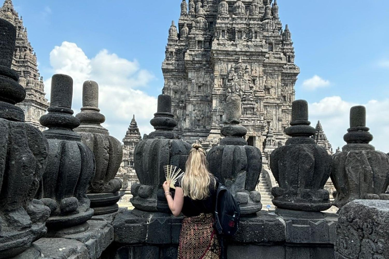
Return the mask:
[(220, 245), (213, 223), (212, 213), (184, 217), (177, 259), (219, 259)]

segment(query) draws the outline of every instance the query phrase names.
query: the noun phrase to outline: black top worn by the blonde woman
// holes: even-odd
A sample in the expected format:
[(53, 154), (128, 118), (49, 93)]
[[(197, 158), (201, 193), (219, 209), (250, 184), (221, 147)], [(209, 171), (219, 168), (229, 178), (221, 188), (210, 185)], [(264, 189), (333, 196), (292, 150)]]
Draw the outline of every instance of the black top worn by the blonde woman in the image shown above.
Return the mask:
[[(175, 187), (181, 187), (181, 179), (178, 179)], [(184, 205), (182, 206), (182, 214), (186, 217), (196, 217), (201, 213), (213, 213), (216, 206), (216, 189), (215, 182), (211, 180), (209, 185), (210, 196), (204, 200), (192, 200), (191, 198), (184, 197)]]

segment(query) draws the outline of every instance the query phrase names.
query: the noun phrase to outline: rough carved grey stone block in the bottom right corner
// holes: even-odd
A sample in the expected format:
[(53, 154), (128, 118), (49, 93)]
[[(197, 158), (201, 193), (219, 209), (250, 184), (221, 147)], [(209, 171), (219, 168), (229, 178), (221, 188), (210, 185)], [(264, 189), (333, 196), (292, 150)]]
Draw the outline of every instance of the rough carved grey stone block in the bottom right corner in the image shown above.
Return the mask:
[(354, 200), (340, 209), (338, 259), (389, 258), (389, 201)]

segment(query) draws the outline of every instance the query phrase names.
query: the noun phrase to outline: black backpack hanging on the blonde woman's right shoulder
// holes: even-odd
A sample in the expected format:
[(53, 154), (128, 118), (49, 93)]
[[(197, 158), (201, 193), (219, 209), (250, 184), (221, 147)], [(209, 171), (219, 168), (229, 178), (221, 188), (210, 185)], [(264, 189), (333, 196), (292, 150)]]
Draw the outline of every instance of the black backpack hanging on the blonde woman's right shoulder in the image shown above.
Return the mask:
[(238, 231), (241, 218), (239, 202), (231, 192), (217, 181), (215, 229), (220, 236), (232, 237)]

